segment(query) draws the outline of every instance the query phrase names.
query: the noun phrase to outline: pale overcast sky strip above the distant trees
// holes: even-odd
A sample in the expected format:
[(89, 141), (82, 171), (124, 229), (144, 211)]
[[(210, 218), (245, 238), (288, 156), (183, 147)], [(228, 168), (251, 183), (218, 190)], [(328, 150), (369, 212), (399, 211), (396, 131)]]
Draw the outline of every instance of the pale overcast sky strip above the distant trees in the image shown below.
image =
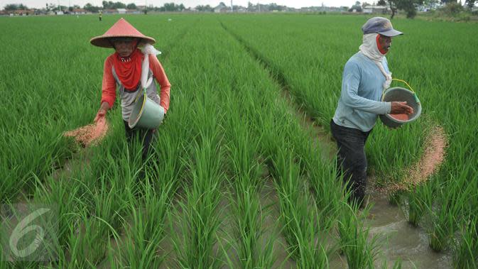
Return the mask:
[[(176, 3), (176, 4), (184, 4), (184, 6), (188, 7), (195, 7), (197, 5), (207, 5), (210, 6), (217, 6), (220, 1), (224, 0), (107, 0), (107, 1), (121, 1), (124, 4), (134, 3), (136, 5), (145, 5), (146, 3), (148, 6), (152, 4), (153, 6), (163, 6), (164, 3)], [(321, 6), (322, 3), (325, 6), (352, 6), (355, 1), (353, 0), (336, 0), (336, 1), (314, 1), (314, 0), (250, 0), (251, 3), (257, 4), (270, 4), (276, 3), (278, 5), (289, 6), (300, 8), (303, 6)], [(234, 5), (238, 6), (247, 6), (248, 0), (233, 0)], [(362, 2), (362, 1), (361, 1)], [(369, 1), (374, 2), (374, 1)], [(6, 4), (24, 4), (29, 8), (43, 8), (45, 7), (46, 3), (53, 3), (53, 4), (60, 4), (62, 6), (72, 6), (73, 4), (77, 4), (79, 6), (85, 6), (87, 3), (91, 3), (94, 6), (102, 6), (102, 0), (0, 0), (0, 9), (3, 9)], [(227, 6), (231, 5), (231, 1), (224, 1)]]

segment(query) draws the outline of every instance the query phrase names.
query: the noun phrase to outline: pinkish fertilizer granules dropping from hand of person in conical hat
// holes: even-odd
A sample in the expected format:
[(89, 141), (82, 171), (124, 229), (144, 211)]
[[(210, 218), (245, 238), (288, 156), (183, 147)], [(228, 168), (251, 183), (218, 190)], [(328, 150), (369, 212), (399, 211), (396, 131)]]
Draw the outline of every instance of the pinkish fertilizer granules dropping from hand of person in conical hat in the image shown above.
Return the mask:
[(96, 123), (76, 128), (63, 133), (63, 136), (73, 137), (82, 146), (90, 146), (104, 138), (108, 132), (108, 123), (105, 118), (99, 119)]

